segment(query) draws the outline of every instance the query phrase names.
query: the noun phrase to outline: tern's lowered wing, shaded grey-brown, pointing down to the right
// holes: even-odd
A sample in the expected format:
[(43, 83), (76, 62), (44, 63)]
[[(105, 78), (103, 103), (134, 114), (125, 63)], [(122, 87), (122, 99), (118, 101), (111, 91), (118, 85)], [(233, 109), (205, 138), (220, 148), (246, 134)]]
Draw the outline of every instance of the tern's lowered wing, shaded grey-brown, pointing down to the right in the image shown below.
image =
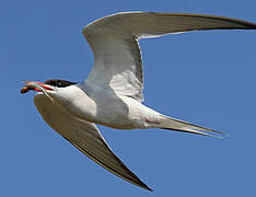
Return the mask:
[(95, 124), (73, 117), (43, 94), (36, 94), (34, 103), (44, 120), (90, 159), (115, 175), (152, 190), (114, 154)]

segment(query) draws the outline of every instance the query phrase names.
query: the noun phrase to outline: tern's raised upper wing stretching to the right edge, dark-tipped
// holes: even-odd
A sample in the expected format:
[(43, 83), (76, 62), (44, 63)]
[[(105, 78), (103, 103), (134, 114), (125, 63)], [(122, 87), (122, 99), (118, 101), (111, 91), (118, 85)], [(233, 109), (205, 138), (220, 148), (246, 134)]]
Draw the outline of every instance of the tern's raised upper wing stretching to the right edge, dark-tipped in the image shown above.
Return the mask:
[(94, 67), (85, 81), (118, 95), (142, 101), (142, 62), (137, 39), (199, 30), (256, 28), (236, 19), (154, 12), (125, 12), (96, 20), (83, 28), (94, 53)]

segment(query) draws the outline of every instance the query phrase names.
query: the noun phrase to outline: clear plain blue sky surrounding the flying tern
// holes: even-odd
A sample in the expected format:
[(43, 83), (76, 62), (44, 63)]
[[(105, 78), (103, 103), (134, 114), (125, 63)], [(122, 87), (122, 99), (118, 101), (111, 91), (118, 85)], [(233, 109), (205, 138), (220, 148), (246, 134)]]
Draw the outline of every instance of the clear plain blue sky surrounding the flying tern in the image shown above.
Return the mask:
[(103, 170), (55, 132), (23, 80), (82, 81), (93, 54), (82, 27), (119, 11), (217, 14), (256, 22), (253, 0), (10, 0), (0, 2), (0, 196), (255, 196), (256, 31), (140, 42), (144, 104), (224, 131), (220, 140), (168, 130), (100, 127), (153, 193)]

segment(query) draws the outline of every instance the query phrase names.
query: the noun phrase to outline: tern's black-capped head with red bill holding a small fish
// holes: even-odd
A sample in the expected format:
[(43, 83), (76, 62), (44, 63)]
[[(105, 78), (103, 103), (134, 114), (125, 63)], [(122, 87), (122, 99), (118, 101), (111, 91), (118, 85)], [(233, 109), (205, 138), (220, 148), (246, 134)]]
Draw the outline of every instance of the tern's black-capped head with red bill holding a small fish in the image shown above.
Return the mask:
[(58, 79), (47, 80), (44, 83), (37, 81), (24, 81), (24, 83), (25, 85), (21, 89), (21, 94), (24, 94), (31, 90), (37, 92), (55, 91), (59, 88), (66, 88), (75, 84), (74, 82)]

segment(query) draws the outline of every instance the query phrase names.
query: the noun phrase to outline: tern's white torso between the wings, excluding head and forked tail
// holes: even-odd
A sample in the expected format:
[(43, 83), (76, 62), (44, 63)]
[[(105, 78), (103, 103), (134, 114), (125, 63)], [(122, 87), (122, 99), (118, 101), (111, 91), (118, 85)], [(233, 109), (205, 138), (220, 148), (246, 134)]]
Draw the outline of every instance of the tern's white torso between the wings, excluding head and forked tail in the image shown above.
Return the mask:
[[(82, 83), (48, 94), (73, 116), (116, 129), (149, 128), (150, 121), (155, 121), (159, 115), (131, 97), (117, 96)], [(39, 93), (38, 96), (45, 95)]]

